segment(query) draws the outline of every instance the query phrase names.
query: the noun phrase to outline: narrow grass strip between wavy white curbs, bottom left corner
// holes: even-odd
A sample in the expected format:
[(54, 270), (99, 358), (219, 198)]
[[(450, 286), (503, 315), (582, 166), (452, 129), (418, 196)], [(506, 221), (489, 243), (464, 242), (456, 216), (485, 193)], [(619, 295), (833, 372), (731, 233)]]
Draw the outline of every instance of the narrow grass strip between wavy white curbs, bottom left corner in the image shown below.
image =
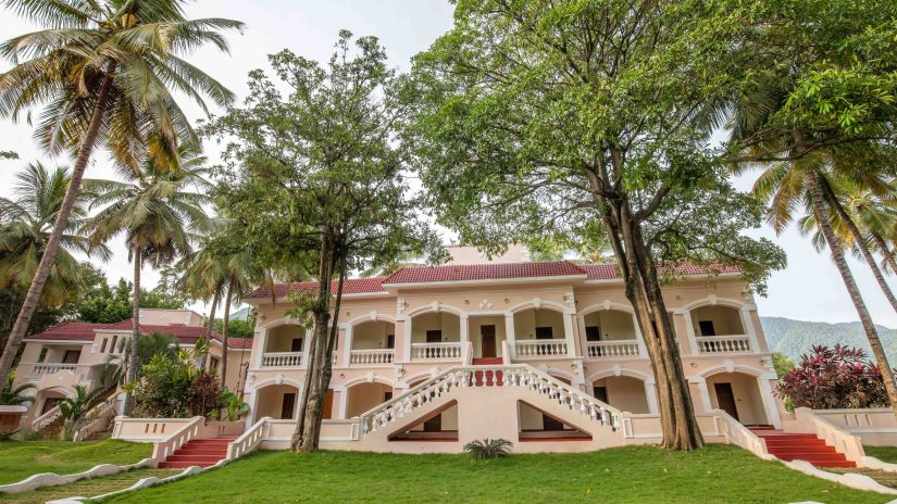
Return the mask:
[(136, 483), (142, 478), (155, 476), (157, 478), (165, 478), (167, 476), (176, 475), (182, 469), (134, 469), (126, 472), (119, 472), (115, 475), (103, 476), (102, 478), (83, 479), (74, 483), (60, 484), (57, 487), (45, 487), (35, 490), (34, 492), (23, 492), (13, 494), (0, 493), (0, 504), (16, 503), (16, 504), (43, 504), (47, 501), (54, 501), (58, 499), (102, 495), (104, 493), (123, 490)]

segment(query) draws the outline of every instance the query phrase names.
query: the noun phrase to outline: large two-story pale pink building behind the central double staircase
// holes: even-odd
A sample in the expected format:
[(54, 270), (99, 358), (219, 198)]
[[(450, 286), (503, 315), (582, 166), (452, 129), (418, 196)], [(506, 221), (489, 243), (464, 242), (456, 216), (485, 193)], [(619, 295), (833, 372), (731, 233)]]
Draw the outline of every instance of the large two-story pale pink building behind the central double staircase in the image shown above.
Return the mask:
[[(403, 267), (387, 277), (346, 281), (325, 418), (349, 420), (365, 412), (373, 416), (370, 412), (383, 403), (407, 401), (407, 407), (377, 413), (385, 415), (383, 424), (402, 426), (390, 440), (457, 440), (457, 403), (412, 418), (412, 406), (427, 400), (406, 392), (427, 380), (435, 383), (435, 377), (452, 368), (477, 365), (510, 367), (485, 378), (470, 371), (475, 377), (464, 378), (461, 387), (488, 379), (520, 385), (518, 378), (508, 378), (508, 370), (532, 368), (572, 386), (552, 392), (555, 399), (583, 393), (597, 399), (595, 404), (634, 414), (627, 421), (656, 416), (650, 362), (615, 266), (530, 262), (519, 250), (493, 261), (472, 249), (450, 252), (454, 261), (446, 265)], [(776, 376), (746, 282), (734, 269), (711, 274), (683, 266), (678, 274), (663, 293), (696, 412), (722, 410), (747, 426), (780, 426), (784, 410), (773, 395)], [(315, 290), (315, 282), (298, 282), (247, 297), (258, 310), (245, 388), (252, 410), (248, 425), (297, 414), (311, 333), (285, 315), (292, 307), (287, 294)], [(461, 382), (445, 383), (427, 387), (438, 394)], [(394, 399), (400, 396), (408, 398)], [(489, 421), (489, 402), (477, 401), (484, 421)], [(583, 411), (593, 407), (582, 398), (576, 401)], [(516, 408), (519, 439), (563, 438), (576, 430), (547, 403), (518, 401)], [(396, 421), (403, 415), (408, 417)], [(361, 429), (376, 430), (379, 421), (362, 418)], [(353, 430), (351, 437), (358, 436)]]

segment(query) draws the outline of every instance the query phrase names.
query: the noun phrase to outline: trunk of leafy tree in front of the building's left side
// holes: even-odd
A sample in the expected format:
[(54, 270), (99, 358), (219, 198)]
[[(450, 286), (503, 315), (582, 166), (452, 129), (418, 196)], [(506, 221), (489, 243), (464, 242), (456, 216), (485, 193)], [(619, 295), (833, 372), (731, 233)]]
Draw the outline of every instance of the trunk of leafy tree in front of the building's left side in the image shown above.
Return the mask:
[(331, 320), (331, 282), (334, 270), (334, 230), (325, 228), (321, 237), (321, 260), (317, 267), (317, 299), (312, 310), (314, 335), (312, 336), (309, 361), (306, 366), (306, 383), (296, 431), (290, 448), (297, 452), (312, 451), (317, 434), (317, 415), (321, 414), (326, 391), (319, 389), (324, 360), (331, 358), (327, 351), (327, 329)]

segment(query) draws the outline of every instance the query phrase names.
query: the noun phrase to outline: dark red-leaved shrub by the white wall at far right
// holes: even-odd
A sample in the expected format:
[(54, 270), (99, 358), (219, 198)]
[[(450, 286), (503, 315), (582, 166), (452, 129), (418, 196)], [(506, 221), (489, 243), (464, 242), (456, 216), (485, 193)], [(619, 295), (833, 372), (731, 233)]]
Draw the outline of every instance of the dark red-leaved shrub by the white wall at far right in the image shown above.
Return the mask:
[(813, 346), (778, 382), (776, 394), (813, 410), (888, 406), (882, 371), (862, 349)]

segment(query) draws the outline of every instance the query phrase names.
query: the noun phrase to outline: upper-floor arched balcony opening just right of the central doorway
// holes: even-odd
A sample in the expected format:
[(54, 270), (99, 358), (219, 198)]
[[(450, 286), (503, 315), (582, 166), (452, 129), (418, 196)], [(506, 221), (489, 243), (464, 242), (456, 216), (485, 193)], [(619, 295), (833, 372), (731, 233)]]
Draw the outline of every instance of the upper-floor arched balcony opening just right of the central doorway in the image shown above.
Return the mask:
[(514, 352), (518, 358), (566, 355), (563, 314), (548, 308), (514, 313)]

